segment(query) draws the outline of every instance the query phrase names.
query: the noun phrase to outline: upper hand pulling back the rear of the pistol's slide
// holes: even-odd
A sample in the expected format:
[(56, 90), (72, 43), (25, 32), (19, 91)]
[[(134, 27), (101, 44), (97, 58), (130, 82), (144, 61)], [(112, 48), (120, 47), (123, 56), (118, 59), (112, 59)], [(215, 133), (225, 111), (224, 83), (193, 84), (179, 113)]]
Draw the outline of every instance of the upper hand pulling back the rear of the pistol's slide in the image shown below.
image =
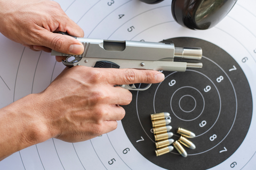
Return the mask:
[[(0, 0), (0, 32), (7, 38), (32, 50), (82, 54), (83, 45), (70, 36), (53, 32), (67, 32), (83, 37), (83, 30), (50, 0)], [(57, 57), (58, 58), (58, 57)]]

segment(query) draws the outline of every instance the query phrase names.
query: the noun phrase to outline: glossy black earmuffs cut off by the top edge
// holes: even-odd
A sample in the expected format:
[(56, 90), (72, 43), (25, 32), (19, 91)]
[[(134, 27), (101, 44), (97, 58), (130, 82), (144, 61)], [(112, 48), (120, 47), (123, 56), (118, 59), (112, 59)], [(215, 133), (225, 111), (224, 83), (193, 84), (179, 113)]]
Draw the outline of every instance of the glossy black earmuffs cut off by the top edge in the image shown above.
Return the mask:
[[(140, 0), (156, 4), (164, 0)], [(237, 0), (172, 0), (172, 16), (183, 27), (205, 30), (219, 23)]]

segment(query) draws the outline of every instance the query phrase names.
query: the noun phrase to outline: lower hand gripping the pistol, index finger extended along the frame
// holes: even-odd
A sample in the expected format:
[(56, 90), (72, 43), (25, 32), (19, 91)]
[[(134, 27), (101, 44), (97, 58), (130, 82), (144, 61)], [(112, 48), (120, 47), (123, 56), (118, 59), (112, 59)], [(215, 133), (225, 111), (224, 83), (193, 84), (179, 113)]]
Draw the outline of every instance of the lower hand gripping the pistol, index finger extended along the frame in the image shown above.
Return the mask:
[[(98, 137), (117, 128), (125, 115), (123, 107), (132, 100), (129, 90), (116, 84), (158, 83), (164, 74), (135, 69), (103, 69), (74, 66), (65, 69), (40, 94), (36, 111), (49, 135), (67, 142), (79, 142)], [(42, 141), (42, 140), (39, 140)]]

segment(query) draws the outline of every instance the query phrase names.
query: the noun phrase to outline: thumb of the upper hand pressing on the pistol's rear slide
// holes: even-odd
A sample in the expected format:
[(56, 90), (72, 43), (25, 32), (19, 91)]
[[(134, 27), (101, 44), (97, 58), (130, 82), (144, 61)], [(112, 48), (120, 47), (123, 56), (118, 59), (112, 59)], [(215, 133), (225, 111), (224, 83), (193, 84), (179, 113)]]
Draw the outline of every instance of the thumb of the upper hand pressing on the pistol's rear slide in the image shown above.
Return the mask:
[(41, 45), (66, 54), (79, 55), (84, 52), (84, 46), (75, 38), (47, 30), (42, 34)]

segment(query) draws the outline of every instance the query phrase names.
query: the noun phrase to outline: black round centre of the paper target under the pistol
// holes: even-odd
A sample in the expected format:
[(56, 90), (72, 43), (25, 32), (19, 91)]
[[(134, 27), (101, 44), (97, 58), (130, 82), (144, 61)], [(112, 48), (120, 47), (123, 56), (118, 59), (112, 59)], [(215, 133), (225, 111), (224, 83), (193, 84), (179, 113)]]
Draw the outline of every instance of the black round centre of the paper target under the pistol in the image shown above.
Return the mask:
[[(163, 72), (165, 80), (146, 91), (132, 91), (125, 106), (124, 130), (133, 146), (150, 162), (166, 169), (208, 169), (230, 157), (243, 142), (252, 118), (252, 96), (241, 67), (225, 50), (195, 38), (173, 38), (175, 46), (201, 47), (203, 68), (186, 72)], [(231, 68), (236, 67), (236, 70)], [(231, 71), (229, 71), (231, 69)], [(196, 134), (196, 149), (183, 158), (174, 149), (155, 155), (150, 114), (169, 112), (174, 140), (176, 130)], [(243, 126), (241, 126), (243, 124)], [(143, 138), (143, 141), (137, 142)], [(223, 149), (225, 148), (225, 149)], [(195, 164), (202, 162), (204, 164)]]

